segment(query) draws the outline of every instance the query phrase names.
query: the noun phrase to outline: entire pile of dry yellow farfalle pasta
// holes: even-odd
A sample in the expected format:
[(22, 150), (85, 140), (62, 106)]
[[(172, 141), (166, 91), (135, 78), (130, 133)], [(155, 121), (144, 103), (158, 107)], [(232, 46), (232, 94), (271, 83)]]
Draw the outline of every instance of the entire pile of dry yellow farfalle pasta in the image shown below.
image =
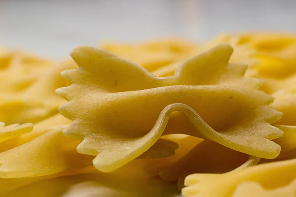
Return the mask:
[(296, 35), (100, 48), (0, 49), (0, 196), (296, 195)]

